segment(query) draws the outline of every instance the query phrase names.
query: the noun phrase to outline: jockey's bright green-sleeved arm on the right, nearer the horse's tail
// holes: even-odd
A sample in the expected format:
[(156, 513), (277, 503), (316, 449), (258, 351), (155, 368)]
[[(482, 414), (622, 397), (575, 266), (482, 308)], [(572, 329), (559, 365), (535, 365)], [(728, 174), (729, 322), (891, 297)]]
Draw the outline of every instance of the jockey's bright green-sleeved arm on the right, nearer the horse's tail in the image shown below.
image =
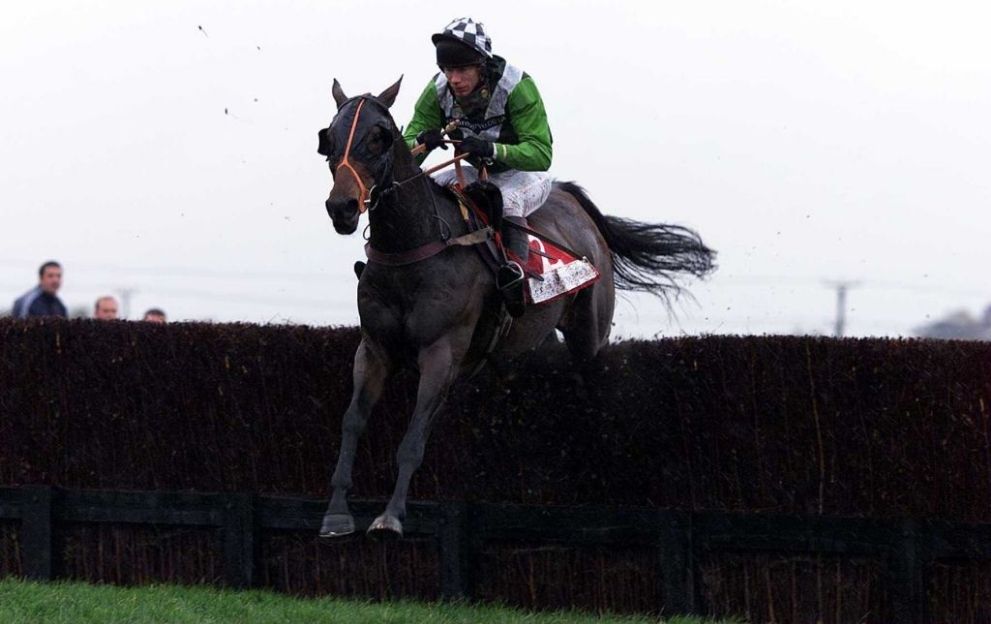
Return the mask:
[[(554, 154), (544, 101), (529, 76), (509, 94), (506, 112), (516, 131), (515, 144), (496, 143), (496, 160), (519, 171), (547, 171)], [(415, 136), (415, 134), (414, 134)]]

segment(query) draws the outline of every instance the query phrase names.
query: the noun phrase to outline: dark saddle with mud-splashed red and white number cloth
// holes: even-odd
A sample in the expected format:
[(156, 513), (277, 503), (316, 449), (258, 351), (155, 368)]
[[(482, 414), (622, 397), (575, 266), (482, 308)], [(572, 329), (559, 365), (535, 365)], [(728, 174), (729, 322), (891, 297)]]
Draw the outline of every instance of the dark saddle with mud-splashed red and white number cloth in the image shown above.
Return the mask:
[[(485, 264), (497, 273), (506, 260), (517, 262), (526, 277), (524, 294), (530, 304), (553, 301), (588, 288), (599, 279), (599, 271), (585, 258), (549, 236), (532, 228), (503, 220), (499, 189), (486, 182), (462, 187), (455, 182), (448, 189), (458, 198), (461, 216), (469, 232), (491, 228), (484, 245), (476, 245)], [(527, 234), (530, 253), (524, 262), (502, 240), (502, 228), (512, 227)]]

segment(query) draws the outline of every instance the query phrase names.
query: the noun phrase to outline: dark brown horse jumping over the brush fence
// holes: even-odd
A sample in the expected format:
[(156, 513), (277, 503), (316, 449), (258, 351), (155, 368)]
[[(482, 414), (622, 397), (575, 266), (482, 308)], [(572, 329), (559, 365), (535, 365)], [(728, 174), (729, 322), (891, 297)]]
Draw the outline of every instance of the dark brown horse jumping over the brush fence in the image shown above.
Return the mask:
[(378, 96), (348, 97), (335, 79), (337, 112), (318, 135), (333, 178), (325, 207), (334, 229), (353, 234), (367, 208), (369, 255), (358, 280), (353, 393), (319, 533), (327, 540), (355, 532), (347, 501), (355, 450), (391, 373), (412, 367), (419, 381), (392, 497), (367, 530), (373, 538), (402, 537), (410, 481), (457, 379), (487, 360), (511, 362), (556, 338), (555, 330), (577, 368), (588, 371), (608, 341), (616, 288), (666, 297), (681, 288), (679, 274), (701, 277), (714, 266), (715, 252), (696, 232), (605, 216), (580, 187), (556, 182), (530, 226), (590, 260), (600, 279), (528, 306), (493, 349), (493, 332), (506, 318), (495, 277), (474, 246), (451, 244), (468, 229), (456, 197), (424, 175), (389, 112), (401, 82)]

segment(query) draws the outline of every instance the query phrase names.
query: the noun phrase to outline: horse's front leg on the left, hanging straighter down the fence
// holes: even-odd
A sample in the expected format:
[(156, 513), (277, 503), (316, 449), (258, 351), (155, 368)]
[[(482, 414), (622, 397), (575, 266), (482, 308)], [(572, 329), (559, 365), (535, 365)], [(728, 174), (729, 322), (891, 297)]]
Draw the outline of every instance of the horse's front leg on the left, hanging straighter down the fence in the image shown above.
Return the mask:
[(348, 509), (348, 490), (351, 489), (351, 469), (354, 466), (358, 438), (368, 424), (372, 408), (382, 396), (385, 379), (389, 374), (387, 356), (372, 348), (363, 338), (354, 354), (354, 392), (351, 404), (341, 423), (341, 451), (337, 468), (330, 479), (333, 494), (323, 516), (320, 537), (335, 538), (354, 533), (354, 518)]

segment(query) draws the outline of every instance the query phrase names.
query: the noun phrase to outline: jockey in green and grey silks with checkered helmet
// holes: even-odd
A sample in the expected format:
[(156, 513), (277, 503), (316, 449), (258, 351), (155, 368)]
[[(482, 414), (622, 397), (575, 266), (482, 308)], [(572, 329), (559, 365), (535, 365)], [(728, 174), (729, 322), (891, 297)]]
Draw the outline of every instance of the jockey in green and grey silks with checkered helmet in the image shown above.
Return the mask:
[[(489, 181), (502, 193), (503, 242), (525, 264), (529, 238), (505, 221), (526, 226), (526, 217), (551, 192), (547, 173), (553, 153), (551, 130), (537, 85), (528, 74), (492, 54), (492, 40), (471, 18), (454, 20), (431, 40), (441, 71), (417, 100), (403, 138), (411, 148), (422, 144), (427, 152), (447, 149), (441, 128), (457, 122), (450, 137), (461, 141), (459, 153), (470, 154), (467, 161), (472, 166), (464, 168), (465, 177), (477, 181), (484, 164)], [(424, 158), (426, 152), (418, 162)], [(455, 176), (448, 169), (435, 179), (446, 186)], [(499, 271), (499, 288), (509, 303), (519, 304), (508, 306), (511, 312), (522, 312), (523, 277), (516, 262)]]

